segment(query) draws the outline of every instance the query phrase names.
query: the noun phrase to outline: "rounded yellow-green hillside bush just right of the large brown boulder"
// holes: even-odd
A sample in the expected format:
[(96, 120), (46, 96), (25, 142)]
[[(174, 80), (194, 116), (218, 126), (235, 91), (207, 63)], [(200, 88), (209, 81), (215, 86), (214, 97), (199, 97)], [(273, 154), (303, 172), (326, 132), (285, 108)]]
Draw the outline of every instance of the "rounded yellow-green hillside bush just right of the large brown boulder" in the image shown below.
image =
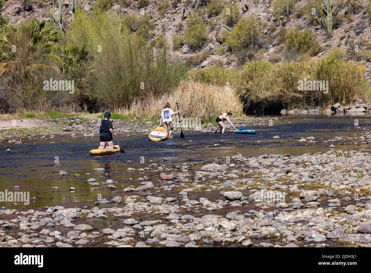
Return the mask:
[(255, 16), (244, 17), (225, 37), (228, 49), (233, 52), (256, 46), (259, 38), (262, 38), (265, 26), (263, 20), (256, 19)]

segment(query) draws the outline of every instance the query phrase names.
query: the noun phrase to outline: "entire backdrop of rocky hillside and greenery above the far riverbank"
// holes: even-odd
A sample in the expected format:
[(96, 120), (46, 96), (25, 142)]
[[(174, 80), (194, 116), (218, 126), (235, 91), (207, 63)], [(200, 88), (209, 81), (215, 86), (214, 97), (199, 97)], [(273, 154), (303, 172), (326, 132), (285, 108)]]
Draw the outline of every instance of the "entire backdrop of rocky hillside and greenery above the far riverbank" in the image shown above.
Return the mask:
[[(0, 3), (0, 95), (17, 111), (113, 108), (142, 118), (156, 116), (171, 97), (209, 119), (227, 108), (260, 113), (370, 102), (370, 1)], [(76, 92), (40, 93), (52, 78), (73, 81)], [(299, 90), (307, 79), (327, 83), (326, 92)], [(192, 109), (196, 97), (212, 110)]]

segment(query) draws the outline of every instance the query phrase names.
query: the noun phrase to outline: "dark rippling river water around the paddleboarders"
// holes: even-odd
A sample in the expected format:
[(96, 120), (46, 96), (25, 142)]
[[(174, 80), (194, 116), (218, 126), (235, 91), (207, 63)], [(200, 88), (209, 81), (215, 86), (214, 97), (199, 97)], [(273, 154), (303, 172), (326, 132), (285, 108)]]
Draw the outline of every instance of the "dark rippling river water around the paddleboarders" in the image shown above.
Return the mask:
[[(267, 117), (267, 116), (262, 116)], [(116, 153), (104, 156), (91, 156), (89, 150), (98, 147), (99, 138), (51, 138), (32, 139), (23, 141), (23, 144), (0, 143), (0, 191), (14, 191), (14, 186), (20, 186), (19, 191), (29, 191), (35, 201), (24, 205), (20, 203), (0, 204), (7, 208), (42, 208), (53, 205), (82, 206), (94, 203), (96, 197), (125, 195), (123, 189), (128, 185), (140, 185), (139, 181), (131, 182), (147, 175), (150, 181), (158, 181), (158, 173), (127, 172), (127, 168), (144, 168), (149, 164), (188, 164), (195, 161), (204, 161), (214, 157), (232, 157), (237, 153), (245, 157), (264, 154), (299, 155), (308, 152), (325, 152), (332, 150), (349, 150), (368, 148), (368, 145), (339, 145), (336, 142), (324, 143), (324, 140), (337, 137), (354, 137), (371, 130), (371, 115), (293, 115), (270, 116), (278, 117), (273, 125), (256, 126), (255, 135), (239, 135), (232, 131), (226, 134), (197, 133), (185, 131), (185, 138), (174, 134), (173, 139), (161, 142), (152, 142), (147, 134), (130, 134), (130, 137), (119, 137), (118, 140), (126, 153)], [(359, 126), (354, 123), (358, 121)], [(278, 135), (280, 139), (272, 139)], [(47, 135), (48, 136), (48, 135)], [(300, 138), (315, 137), (317, 143), (297, 142)], [(321, 138), (323, 138), (321, 140)], [(262, 141), (258, 143), (257, 141)], [(55, 142), (50, 144), (50, 142)], [(214, 146), (215, 144), (219, 144)], [(329, 148), (334, 144), (335, 148)], [(5, 151), (10, 149), (10, 151)], [(63, 167), (54, 167), (56, 157)], [(164, 158), (166, 158), (164, 160)], [(144, 161), (144, 163), (143, 163)], [(157, 167), (158, 167), (157, 166)], [(94, 172), (94, 168), (105, 168), (105, 172)], [(72, 175), (60, 178), (54, 176), (60, 170)], [(86, 174), (86, 173), (90, 173)], [(117, 190), (111, 191), (103, 185), (91, 191), (91, 185), (86, 181), (96, 178), (102, 184), (112, 178)], [(58, 187), (58, 188), (53, 188)], [(76, 188), (70, 192), (69, 188)], [(217, 198), (217, 197), (215, 197)], [(73, 206), (73, 205), (72, 205)]]

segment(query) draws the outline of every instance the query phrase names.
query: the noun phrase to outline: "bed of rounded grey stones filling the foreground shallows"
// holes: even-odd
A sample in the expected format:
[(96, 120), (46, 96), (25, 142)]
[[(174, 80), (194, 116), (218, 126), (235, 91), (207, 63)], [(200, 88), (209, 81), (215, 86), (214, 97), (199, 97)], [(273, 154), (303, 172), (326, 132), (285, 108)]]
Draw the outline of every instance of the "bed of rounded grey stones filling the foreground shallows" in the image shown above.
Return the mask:
[(1, 207), (0, 246), (371, 246), (369, 150), (157, 163), (128, 168), (126, 180), (106, 179), (104, 168), (61, 169), (56, 179), (122, 190), (85, 203)]

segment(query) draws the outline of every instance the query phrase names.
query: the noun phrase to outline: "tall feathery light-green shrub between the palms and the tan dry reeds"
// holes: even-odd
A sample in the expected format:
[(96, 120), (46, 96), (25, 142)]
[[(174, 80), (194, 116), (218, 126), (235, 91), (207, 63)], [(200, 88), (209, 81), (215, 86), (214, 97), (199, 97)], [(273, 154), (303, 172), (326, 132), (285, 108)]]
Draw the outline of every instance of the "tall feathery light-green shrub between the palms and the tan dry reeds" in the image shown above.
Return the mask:
[[(163, 40), (157, 40), (155, 49), (154, 43), (138, 35), (141, 27), (136, 24), (146, 21), (148, 15), (134, 22), (131, 26), (134, 32), (124, 22), (121, 31), (116, 17), (105, 12), (95, 11), (92, 16), (77, 10), (65, 38), (68, 45), (86, 43), (91, 48), (94, 58), (83, 90), (100, 102), (98, 109), (106, 107), (104, 102), (109, 102), (112, 111), (124, 109), (139, 98), (166, 93), (187, 72), (185, 65), (168, 59)], [(97, 45), (101, 46), (101, 52), (97, 52)]]

